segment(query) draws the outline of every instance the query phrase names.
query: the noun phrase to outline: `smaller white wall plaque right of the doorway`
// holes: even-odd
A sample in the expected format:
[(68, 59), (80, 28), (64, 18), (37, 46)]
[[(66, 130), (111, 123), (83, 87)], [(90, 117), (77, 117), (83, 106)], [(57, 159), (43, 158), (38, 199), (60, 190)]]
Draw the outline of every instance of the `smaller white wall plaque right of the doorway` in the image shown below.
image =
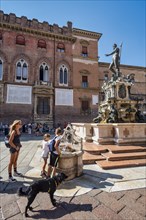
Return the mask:
[(55, 105), (73, 106), (73, 90), (55, 89)]

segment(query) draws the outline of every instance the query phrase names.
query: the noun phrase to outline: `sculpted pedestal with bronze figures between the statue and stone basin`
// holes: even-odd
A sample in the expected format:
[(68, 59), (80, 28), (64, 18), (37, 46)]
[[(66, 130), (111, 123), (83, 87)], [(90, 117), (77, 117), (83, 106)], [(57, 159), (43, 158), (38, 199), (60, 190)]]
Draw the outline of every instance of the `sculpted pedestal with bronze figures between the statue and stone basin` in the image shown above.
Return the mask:
[(99, 114), (93, 119), (95, 123), (139, 123), (144, 122), (140, 110), (143, 99), (130, 94), (134, 85), (134, 74), (112, 77), (104, 81), (102, 91), (104, 101), (100, 103)]

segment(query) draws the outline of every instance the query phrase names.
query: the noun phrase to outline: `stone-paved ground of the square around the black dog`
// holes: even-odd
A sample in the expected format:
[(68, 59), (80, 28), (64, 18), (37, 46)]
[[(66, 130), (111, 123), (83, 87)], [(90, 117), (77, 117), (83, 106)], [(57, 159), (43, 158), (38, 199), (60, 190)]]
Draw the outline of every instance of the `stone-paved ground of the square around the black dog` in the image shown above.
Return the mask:
[[(25, 197), (18, 197), (19, 186), (30, 184), (25, 176), (17, 177), (17, 182), (9, 183), (7, 166), (9, 150), (0, 137), (0, 219), (21, 220), (27, 202)], [(22, 136), (22, 149), (18, 161), (19, 171), (24, 175), (34, 167), (33, 160), (42, 137)], [(31, 177), (30, 177), (31, 178)], [(33, 178), (35, 180), (35, 178)], [(92, 181), (92, 180), (91, 180)], [(146, 219), (146, 188), (118, 192), (103, 191), (97, 184), (89, 192), (71, 197), (55, 196), (58, 207), (53, 207), (47, 193), (39, 193), (33, 202), (33, 212), (28, 219), (62, 219), (62, 220), (144, 220)]]

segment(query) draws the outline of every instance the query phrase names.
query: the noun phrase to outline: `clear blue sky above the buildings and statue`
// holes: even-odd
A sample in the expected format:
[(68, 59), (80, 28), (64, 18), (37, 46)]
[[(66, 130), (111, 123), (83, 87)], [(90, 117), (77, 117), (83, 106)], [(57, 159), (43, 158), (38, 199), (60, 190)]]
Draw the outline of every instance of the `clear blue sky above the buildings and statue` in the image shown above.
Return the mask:
[(101, 33), (100, 62), (111, 62), (113, 44), (122, 45), (121, 64), (146, 67), (146, 0), (0, 0), (17, 17)]

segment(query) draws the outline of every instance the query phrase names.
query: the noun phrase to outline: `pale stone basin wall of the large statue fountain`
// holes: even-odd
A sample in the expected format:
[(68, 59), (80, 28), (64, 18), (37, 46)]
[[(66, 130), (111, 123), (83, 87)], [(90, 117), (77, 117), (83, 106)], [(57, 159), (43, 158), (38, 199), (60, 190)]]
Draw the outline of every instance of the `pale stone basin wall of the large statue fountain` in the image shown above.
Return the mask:
[(129, 145), (146, 142), (146, 123), (72, 123), (72, 126), (84, 142), (93, 141), (103, 145)]

